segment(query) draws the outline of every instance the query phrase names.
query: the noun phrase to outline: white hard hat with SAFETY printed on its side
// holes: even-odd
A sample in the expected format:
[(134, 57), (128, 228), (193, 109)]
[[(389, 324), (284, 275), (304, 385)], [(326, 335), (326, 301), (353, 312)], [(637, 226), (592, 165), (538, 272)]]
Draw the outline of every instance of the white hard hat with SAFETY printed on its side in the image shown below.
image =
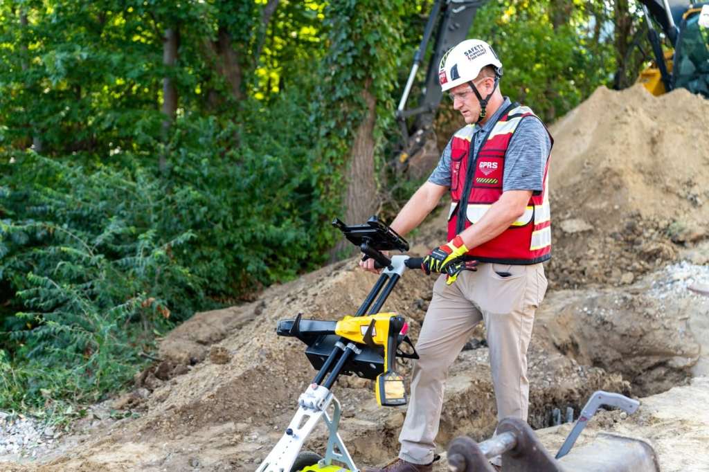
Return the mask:
[(464, 40), (446, 52), (438, 68), (438, 82), (442, 91), (471, 82), (487, 65), (495, 67), (498, 77), (502, 75), (502, 62), (492, 47), (482, 40)]

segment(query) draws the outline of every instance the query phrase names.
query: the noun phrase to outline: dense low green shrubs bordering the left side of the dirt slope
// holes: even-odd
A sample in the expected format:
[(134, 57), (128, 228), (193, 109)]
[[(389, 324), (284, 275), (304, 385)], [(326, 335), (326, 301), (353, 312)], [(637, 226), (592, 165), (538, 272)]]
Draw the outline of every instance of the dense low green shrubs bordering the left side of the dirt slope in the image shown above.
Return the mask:
[(2, 166), (0, 279), (21, 310), (1, 320), (14, 380), (0, 405), (93, 400), (130, 378), (156, 328), (321, 262), (307, 89), (294, 90), (272, 112), (245, 103), (241, 126), (177, 120), (167, 182), (130, 156)]

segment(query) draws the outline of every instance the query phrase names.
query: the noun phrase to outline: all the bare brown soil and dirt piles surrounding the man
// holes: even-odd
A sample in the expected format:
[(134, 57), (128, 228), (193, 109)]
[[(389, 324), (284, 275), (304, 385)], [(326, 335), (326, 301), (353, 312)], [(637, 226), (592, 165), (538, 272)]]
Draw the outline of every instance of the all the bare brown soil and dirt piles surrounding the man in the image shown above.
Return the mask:
[[(647, 410), (598, 425), (656, 441), (664, 470), (679, 470), (671, 468), (673, 448), (691, 456), (709, 437), (705, 415), (685, 414), (707, 400), (698, 393), (705, 380), (688, 383), (708, 371), (709, 298), (687, 289), (709, 282), (709, 137), (697, 131), (705, 129), (709, 101), (683, 90), (655, 98), (637, 87), (598, 89), (552, 127), (554, 257), (530, 346), (532, 427), (551, 425), (555, 407), (578, 412), (601, 389), (655, 395), (642, 400)], [(412, 254), (444, 240), (443, 218), (415, 235)], [(277, 322), (352, 314), (374, 281), (349, 259), (268, 288), (252, 303), (196, 314), (164, 339), (161, 360), (136, 376), (132, 391), (95, 405), (40, 460), (0, 457), (0, 471), (255, 470), (314, 374), (304, 345), (277, 337)], [(414, 339), (432, 282), (408, 271), (384, 306), (411, 321)], [(468, 347), (447, 383), (441, 451), (459, 434), (482, 440), (495, 427), (482, 328)], [(396, 454), (405, 408), (377, 407), (364, 379), (342, 377), (334, 390), (357, 462)], [(680, 403), (667, 408), (672, 395)], [(111, 410), (129, 416), (117, 420)], [(555, 445), (563, 432), (545, 440)], [(322, 450), (325, 441), (321, 428), (308, 446)]]

